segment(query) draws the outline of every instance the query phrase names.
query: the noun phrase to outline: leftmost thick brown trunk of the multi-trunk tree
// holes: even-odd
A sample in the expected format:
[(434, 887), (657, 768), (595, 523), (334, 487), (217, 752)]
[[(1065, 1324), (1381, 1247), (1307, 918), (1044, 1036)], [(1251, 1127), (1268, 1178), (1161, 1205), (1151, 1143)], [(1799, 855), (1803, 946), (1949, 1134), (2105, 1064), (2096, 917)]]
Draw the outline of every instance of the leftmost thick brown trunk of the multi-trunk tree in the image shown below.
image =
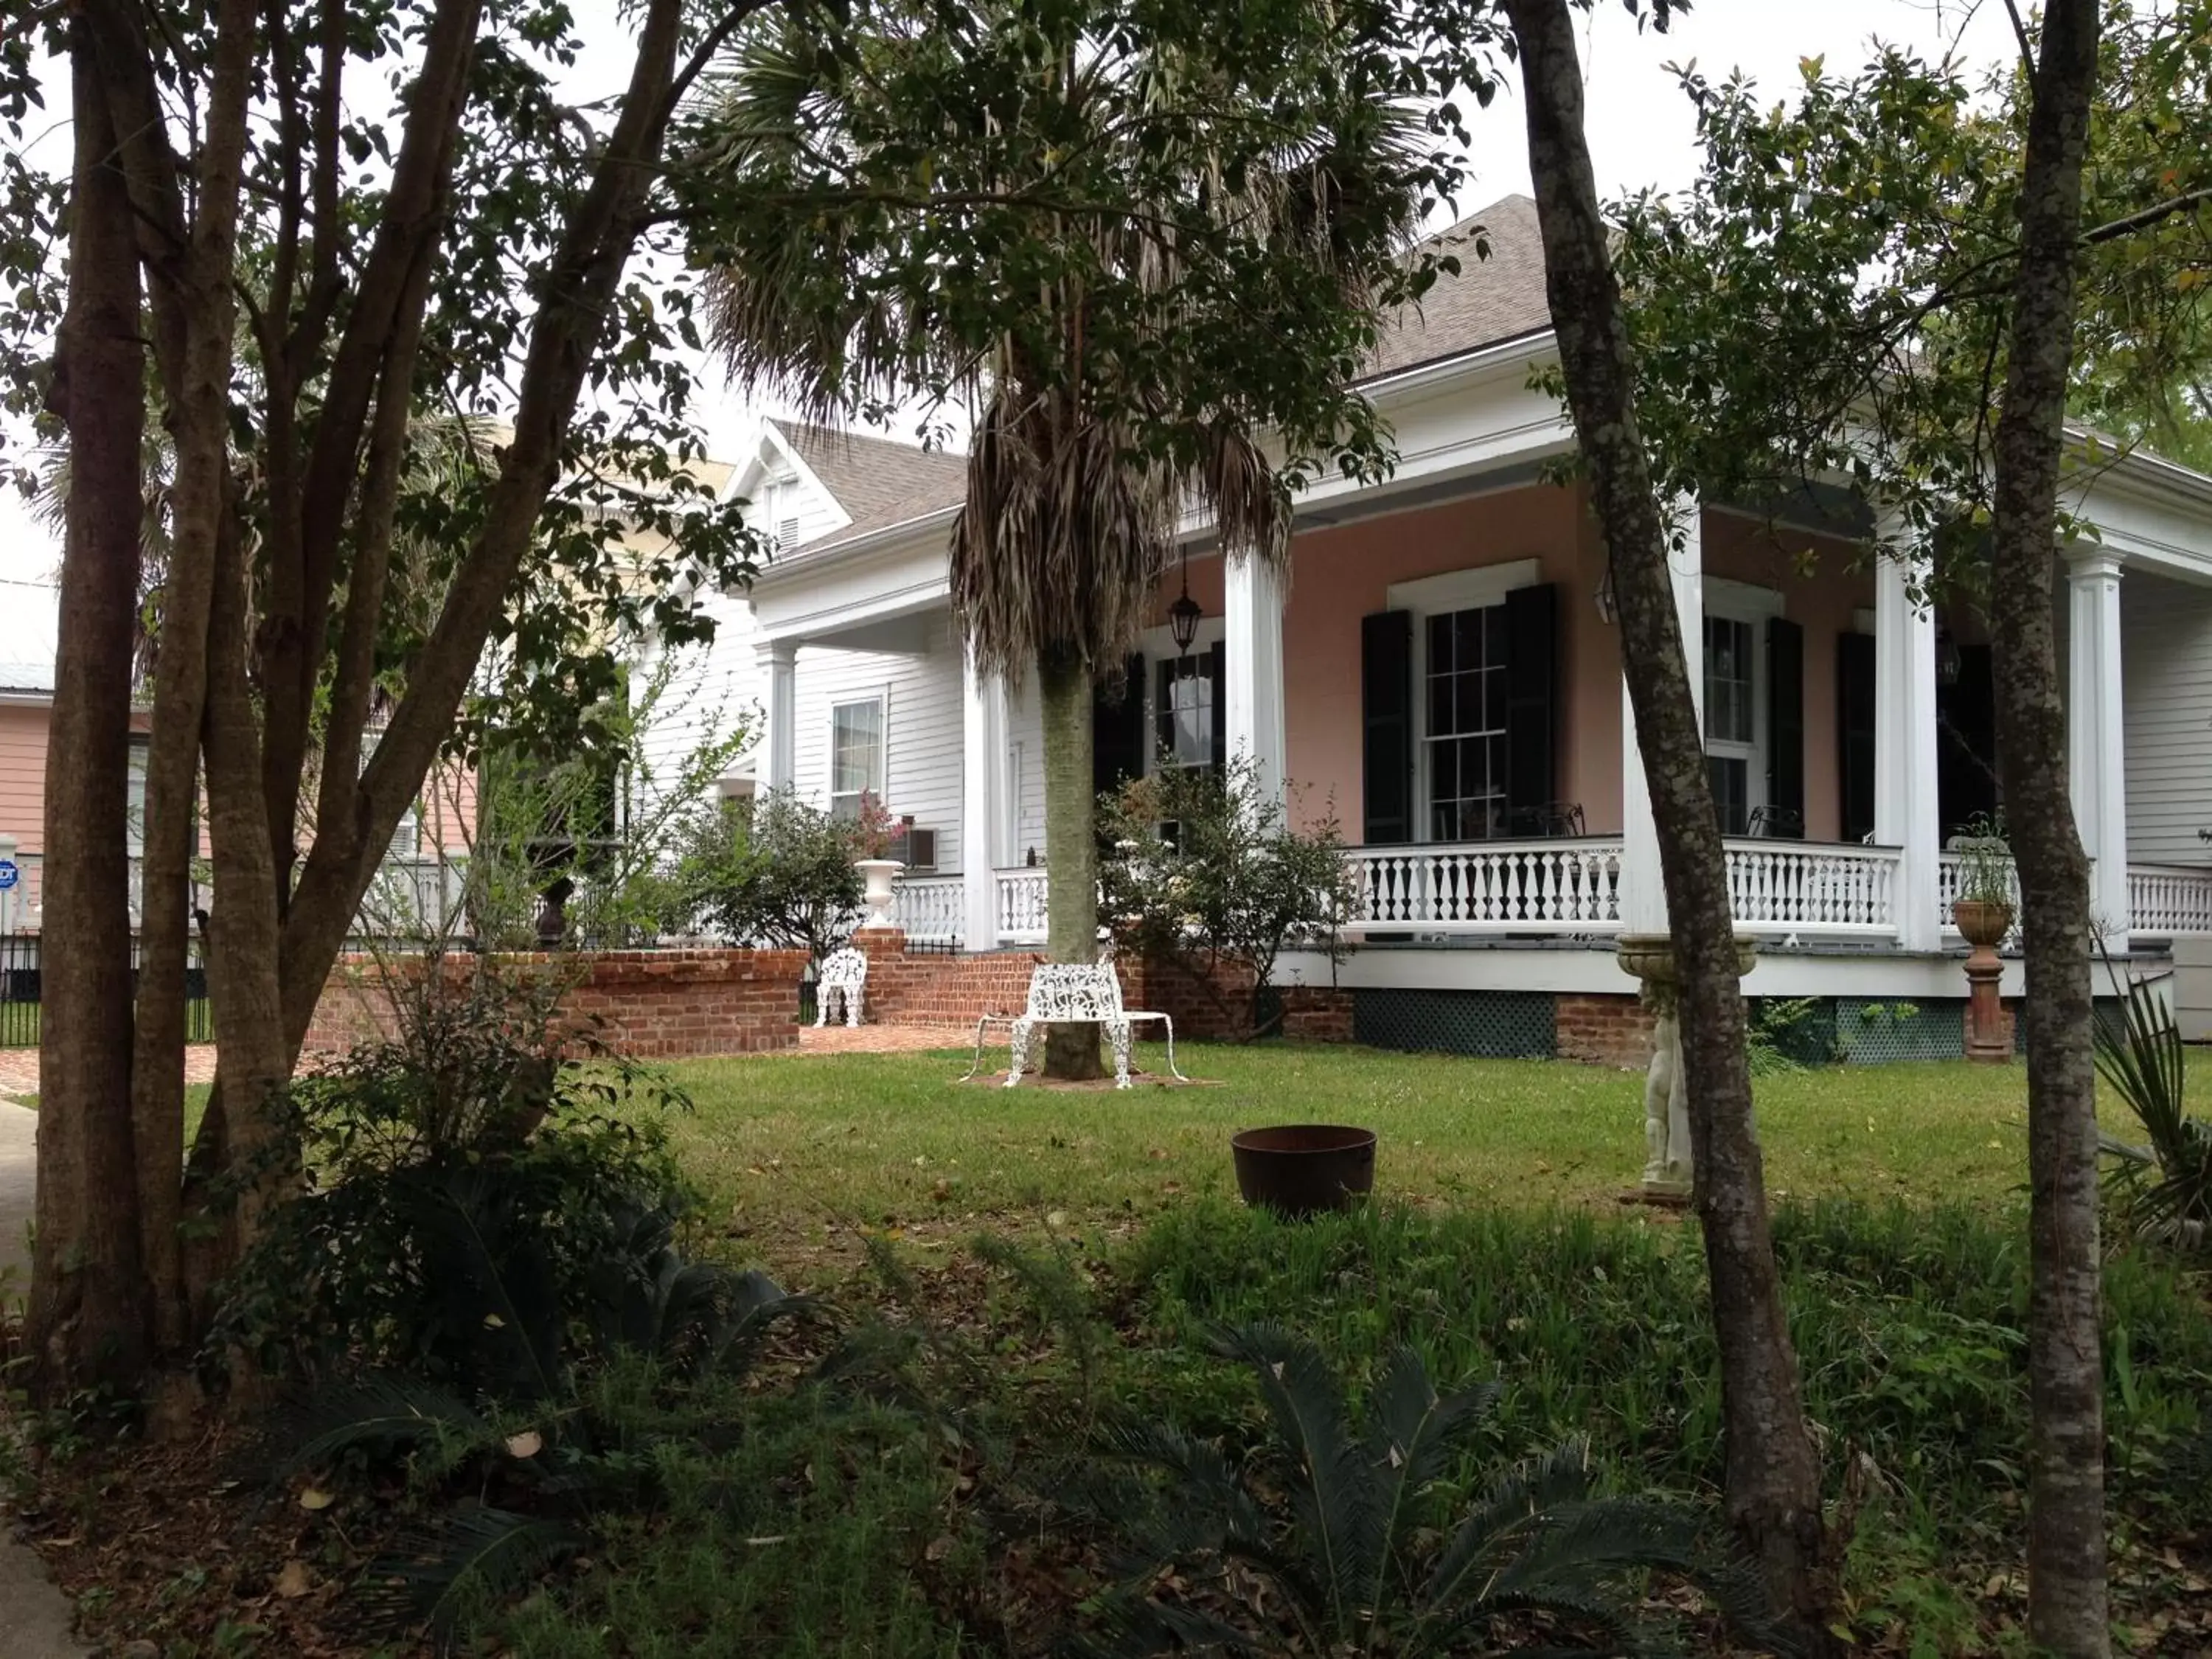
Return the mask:
[(128, 770), (146, 349), (137, 228), (91, 27), (71, 24), (75, 177), (55, 409), (69, 427), (46, 745), (35, 1383), (135, 1385), (148, 1305), (131, 1139)]

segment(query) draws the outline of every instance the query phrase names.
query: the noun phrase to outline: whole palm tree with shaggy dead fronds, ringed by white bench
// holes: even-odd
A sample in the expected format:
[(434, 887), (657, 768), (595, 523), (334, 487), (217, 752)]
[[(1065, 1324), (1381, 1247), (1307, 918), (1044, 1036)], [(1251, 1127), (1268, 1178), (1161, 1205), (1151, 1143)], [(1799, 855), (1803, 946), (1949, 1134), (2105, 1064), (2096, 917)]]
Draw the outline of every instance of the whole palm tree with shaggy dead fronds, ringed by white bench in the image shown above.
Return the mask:
[[(860, 13), (765, 22), (712, 88), (692, 259), (745, 383), (969, 414), (951, 606), (982, 672), (1037, 675), (1048, 951), (1088, 962), (1093, 686), (1192, 526), (1281, 564), (1312, 456), (1380, 465), (1347, 387), (1427, 281), (1440, 161), (1391, 44), (1325, 0)], [(1097, 1075), (1097, 1033), (1055, 1031), (1046, 1073)]]

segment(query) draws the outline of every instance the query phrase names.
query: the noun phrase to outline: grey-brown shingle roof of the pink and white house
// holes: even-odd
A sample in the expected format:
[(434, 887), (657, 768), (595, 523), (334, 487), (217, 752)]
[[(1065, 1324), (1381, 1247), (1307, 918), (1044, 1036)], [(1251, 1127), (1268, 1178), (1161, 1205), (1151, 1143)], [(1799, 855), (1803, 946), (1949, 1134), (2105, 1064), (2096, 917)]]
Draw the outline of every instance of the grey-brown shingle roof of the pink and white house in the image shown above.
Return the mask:
[[(1475, 257), (1475, 228), (1489, 241), (1489, 259)], [(1458, 276), (1438, 276), (1418, 307), (1383, 330), (1363, 380), (1398, 374), (1484, 345), (1542, 334), (1551, 327), (1544, 296), (1544, 241), (1535, 201), (1502, 197), (1482, 212), (1438, 232), (1429, 243), (1455, 252)], [(958, 507), (967, 495), (967, 456), (945, 449), (836, 431), (803, 420), (776, 420), (776, 431), (836, 495), (852, 524), (818, 535), (805, 546), (830, 549), (872, 531)]]

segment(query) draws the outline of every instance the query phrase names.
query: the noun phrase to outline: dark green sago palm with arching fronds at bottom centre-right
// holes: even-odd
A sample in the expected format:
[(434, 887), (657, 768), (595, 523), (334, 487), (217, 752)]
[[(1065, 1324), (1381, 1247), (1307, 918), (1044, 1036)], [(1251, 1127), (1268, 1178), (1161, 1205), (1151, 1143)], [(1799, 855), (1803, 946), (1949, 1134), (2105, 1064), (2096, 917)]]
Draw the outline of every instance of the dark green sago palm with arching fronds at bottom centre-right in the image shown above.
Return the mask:
[[(1164, 1480), (1128, 1493), (1135, 1573), (1102, 1599), (1095, 1655), (1444, 1655), (1498, 1650), (1533, 1630), (1606, 1652), (1657, 1635), (1635, 1579), (1692, 1577), (1756, 1619), (1763, 1593), (1705, 1537), (1688, 1504), (1606, 1498), (1588, 1442), (1495, 1473), (1447, 1513), (1444, 1475), (1498, 1405), (1484, 1383), (1438, 1396), (1411, 1347), (1385, 1360), (1354, 1422), (1321, 1352), (1272, 1325), (1223, 1329), (1214, 1352), (1259, 1385), (1259, 1460), (1164, 1422), (1133, 1422), (1113, 1451)], [(1531, 1619), (1535, 1615), (1535, 1619)], [(1520, 1646), (1520, 1644), (1511, 1644)], [(1553, 1650), (1553, 1648), (1546, 1648)]]

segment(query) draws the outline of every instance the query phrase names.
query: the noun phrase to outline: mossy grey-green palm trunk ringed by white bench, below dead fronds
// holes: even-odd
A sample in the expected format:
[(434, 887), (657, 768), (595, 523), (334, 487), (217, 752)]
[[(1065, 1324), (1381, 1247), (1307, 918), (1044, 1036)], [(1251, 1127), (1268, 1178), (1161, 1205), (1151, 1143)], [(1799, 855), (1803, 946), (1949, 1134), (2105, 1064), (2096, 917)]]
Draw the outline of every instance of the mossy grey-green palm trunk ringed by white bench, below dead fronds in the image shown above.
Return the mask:
[[(1099, 960), (1099, 841), (1091, 794), (1091, 670), (1068, 653), (1037, 655), (1044, 710), (1044, 953), (1055, 962)], [(1044, 1075), (1104, 1077), (1099, 1029), (1057, 1024), (1044, 1037)]]

